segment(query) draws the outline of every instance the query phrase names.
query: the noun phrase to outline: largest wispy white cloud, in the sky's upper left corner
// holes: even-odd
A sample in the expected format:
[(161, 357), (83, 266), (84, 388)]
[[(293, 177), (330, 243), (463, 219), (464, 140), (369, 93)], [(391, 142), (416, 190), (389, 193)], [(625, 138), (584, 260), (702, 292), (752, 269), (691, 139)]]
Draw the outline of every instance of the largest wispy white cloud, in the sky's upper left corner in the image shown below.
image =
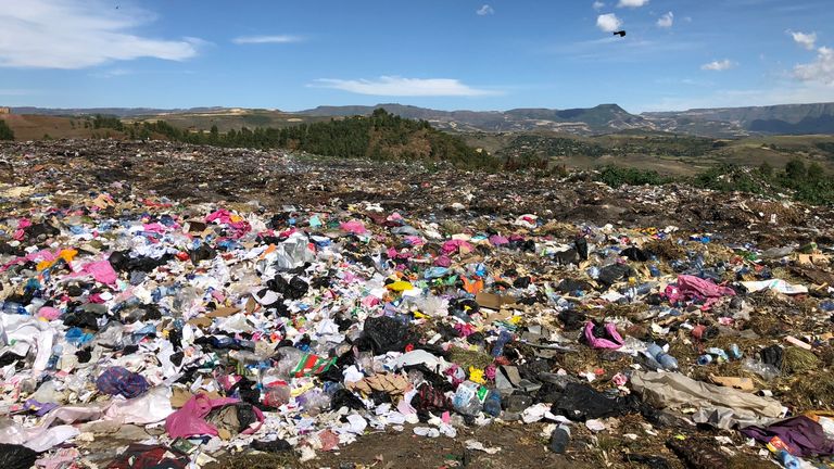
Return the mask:
[(200, 40), (152, 39), (131, 33), (153, 21), (147, 11), (103, 0), (0, 0), (0, 66), (84, 68), (109, 61), (182, 61)]

